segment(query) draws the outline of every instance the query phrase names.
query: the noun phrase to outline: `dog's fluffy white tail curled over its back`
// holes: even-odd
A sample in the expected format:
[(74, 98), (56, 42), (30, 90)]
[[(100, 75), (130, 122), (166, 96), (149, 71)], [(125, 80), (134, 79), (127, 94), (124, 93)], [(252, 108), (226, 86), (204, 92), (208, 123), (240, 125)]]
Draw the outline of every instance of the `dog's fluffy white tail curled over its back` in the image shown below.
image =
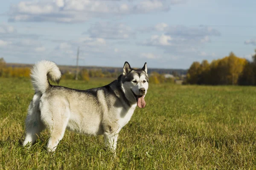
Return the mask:
[(52, 82), (59, 83), (61, 71), (54, 62), (42, 60), (33, 66), (30, 77), (35, 93), (39, 92), (43, 94), (50, 86), (48, 78), (52, 80)]

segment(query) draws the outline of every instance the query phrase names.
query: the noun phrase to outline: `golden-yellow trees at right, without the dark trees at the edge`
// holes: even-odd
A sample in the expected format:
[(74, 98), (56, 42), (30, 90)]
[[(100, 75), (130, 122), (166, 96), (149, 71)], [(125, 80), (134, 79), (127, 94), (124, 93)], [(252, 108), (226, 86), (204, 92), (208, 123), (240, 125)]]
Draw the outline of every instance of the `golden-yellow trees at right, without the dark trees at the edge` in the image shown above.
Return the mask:
[(186, 81), (199, 85), (237, 85), (246, 65), (247, 60), (237, 57), (233, 52), (227, 57), (213, 60), (210, 64), (207, 60), (203, 60), (201, 64), (193, 62), (187, 72)]

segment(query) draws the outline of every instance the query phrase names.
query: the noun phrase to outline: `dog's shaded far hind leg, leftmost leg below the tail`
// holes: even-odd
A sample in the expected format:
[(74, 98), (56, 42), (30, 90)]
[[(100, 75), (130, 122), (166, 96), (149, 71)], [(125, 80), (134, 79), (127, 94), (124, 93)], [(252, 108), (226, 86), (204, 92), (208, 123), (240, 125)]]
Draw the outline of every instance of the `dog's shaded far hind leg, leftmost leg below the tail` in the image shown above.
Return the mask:
[(26, 146), (27, 144), (31, 146), (40, 135), (40, 132), (45, 129), (45, 125), (42, 123), (40, 117), (40, 97), (40, 94), (35, 94), (29, 104), (28, 114), (26, 117), (26, 137), (23, 142), (23, 146)]

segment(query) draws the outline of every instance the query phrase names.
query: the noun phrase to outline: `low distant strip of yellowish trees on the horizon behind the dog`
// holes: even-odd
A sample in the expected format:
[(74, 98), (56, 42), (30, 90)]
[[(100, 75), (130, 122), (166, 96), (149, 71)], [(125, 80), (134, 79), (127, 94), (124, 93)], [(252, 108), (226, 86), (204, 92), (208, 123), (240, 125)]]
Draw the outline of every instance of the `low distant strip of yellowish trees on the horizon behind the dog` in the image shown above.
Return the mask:
[[(3, 58), (0, 58), (0, 77), (30, 77), (30, 69), (32, 65), (22, 65), (22, 64), (7, 64)], [(74, 71), (75, 67), (72, 66), (60, 66), (61, 70), (61, 79), (75, 79), (76, 73)], [(107, 71), (107, 69), (109, 71)], [(157, 71), (154, 71), (157, 70)], [(159, 72), (158, 72), (159, 71)], [(165, 72), (170, 72), (173, 77), (166, 78)], [(168, 72), (168, 73), (169, 73)], [(172, 70), (172, 69), (152, 69), (151, 72), (148, 73), (149, 81), (153, 84), (160, 83), (175, 83), (175, 80), (183, 79), (181, 77), (184, 73), (184, 70)], [(117, 78), (120, 74), (122, 74), (122, 69), (120, 68), (95, 68), (90, 67), (90, 69), (80, 68), (78, 73), (78, 79), (89, 81), (90, 78)]]

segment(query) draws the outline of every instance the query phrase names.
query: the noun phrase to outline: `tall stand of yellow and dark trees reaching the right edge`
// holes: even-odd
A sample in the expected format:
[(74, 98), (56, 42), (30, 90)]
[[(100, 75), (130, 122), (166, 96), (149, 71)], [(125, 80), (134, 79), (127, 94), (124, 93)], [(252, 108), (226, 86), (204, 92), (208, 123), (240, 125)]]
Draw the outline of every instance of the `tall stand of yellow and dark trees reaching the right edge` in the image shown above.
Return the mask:
[[(256, 50), (255, 50), (256, 52)], [(187, 84), (256, 85), (256, 54), (252, 61), (237, 57), (233, 52), (222, 59), (193, 62), (186, 74)]]

